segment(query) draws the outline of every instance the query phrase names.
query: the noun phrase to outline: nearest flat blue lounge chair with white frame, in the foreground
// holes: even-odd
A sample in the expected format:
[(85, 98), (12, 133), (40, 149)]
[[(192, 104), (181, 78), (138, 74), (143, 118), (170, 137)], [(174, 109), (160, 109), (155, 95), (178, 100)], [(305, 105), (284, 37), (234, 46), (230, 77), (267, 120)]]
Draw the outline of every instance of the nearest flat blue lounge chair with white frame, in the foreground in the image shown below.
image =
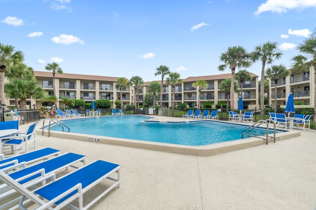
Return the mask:
[[(117, 179), (111, 176), (113, 173), (118, 174)], [(45, 179), (49, 179), (49, 177), (45, 177)], [(83, 207), (84, 193), (104, 179), (112, 180), (114, 183)], [(7, 185), (11, 185), (13, 189), (22, 195), (20, 201), (21, 208), (25, 208), (23, 207), (23, 201), (25, 198), (28, 198), (39, 205), (42, 209), (49, 209), (55, 205), (56, 209), (69, 206), (71, 209), (86, 210), (105, 196), (114, 187), (120, 187), (120, 166), (114, 163), (98, 160), (87, 164), (49, 184), (41, 186), (35, 191), (30, 191), (27, 187), (23, 186), (1, 171), (0, 180)], [(32, 184), (36, 185), (42, 180), (38, 180), (38, 182), (33, 182)], [(30, 185), (28, 187), (30, 187)], [(46, 200), (42, 200), (41, 198)], [(75, 200), (78, 200), (78, 207), (70, 204)]]

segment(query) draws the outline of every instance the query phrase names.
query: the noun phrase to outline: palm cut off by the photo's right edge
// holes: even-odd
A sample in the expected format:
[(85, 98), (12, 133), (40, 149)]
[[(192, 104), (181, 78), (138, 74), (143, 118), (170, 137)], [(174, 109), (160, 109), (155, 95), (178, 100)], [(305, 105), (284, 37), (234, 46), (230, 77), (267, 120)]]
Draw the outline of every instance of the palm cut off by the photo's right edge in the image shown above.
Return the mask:
[[(295, 56), (293, 61), (294, 71), (309, 71), (310, 67), (314, 67), (314, 100), (316, 100), (316, 30), (312, 35), (306, 38), (297, 49), (303, 55)], [(316, 110), (316, 102), (314, 103), (314, 110)]]

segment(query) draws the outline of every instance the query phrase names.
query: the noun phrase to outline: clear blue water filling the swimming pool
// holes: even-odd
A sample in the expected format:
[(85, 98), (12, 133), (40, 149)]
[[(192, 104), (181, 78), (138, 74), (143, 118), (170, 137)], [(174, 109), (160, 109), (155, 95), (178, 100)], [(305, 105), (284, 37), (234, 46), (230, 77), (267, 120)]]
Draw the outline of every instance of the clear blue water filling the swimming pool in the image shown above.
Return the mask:
[[(245, 128), (241, 125), (216, 121), (152, 123), (141, 122), (143, 120), (148, 120), (148, 118), (143, 116), (106, 116), (65, 120), (63, 123), (70, 127), (72, 133), (191, 146), (241, 139), (241, 131)], [(51, 130), (62, 131), (62, 128), (53, 126)], [(266, 129), (256, 129), (255, 132), (265, 134)]]

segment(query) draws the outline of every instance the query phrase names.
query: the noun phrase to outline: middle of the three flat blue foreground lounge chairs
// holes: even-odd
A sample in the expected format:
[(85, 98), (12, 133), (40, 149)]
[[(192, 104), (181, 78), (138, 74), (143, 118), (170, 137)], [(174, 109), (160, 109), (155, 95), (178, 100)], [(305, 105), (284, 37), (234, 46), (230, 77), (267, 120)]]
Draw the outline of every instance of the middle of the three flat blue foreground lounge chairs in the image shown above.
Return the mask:
[[(84, 155), (76, 153), (65, 153), (46, 161), (37, 163), (35, 165), (31, 165), (19, 171), (12, 172), (7, 176), (13, 180), (16, 180), (19, 184), (27, 186), (30, 183), (41, 180), (45, 176), (49, 176), (50, 178), (52, 178), (52, 174), (55, 174), (63, 169), (67, 169), (68, 167), (78, 169), (79, 167), (75, 166), (74, 164), (82, 162), (85, 165), (85, 161), (86, 157)], [(44, 184), (44, 182), (42, 181), (40, 183)], [(14, 195), (16, 193), (16, 190), (12, 189), (11, 185), (3, 183), (0, 185), (0, 192), (0, 200), (3, 200), (6, 199), (8, 196)], [(13, 200), (11, 203), (4, 204), (0, 207), (0, 209), (6, 209), (6, 206), (12, 205), (14, 204), (14, 202), (16, 202), (16, 200)]]

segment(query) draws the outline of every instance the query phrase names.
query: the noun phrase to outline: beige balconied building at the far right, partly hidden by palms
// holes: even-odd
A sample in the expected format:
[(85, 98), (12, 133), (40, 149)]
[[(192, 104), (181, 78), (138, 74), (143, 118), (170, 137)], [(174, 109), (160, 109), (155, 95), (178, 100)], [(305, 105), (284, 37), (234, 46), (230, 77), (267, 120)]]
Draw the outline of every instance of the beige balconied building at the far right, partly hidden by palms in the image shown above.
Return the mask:
[(297, 101), (303, 102), (308, 107), (314, 107), (315, 98), (315, 74), (314, 67), (311, 66), (308, 72), (295, 72), (289, 69), (291, 74), (278, 80), (275, 86), (274, 81), (270, 81), (269, 95), (270, 104), (275, 104), (275, 88), (276, 88), (276, 106), (285, 107), (287, 97), (292, 92), (294, 103)]

